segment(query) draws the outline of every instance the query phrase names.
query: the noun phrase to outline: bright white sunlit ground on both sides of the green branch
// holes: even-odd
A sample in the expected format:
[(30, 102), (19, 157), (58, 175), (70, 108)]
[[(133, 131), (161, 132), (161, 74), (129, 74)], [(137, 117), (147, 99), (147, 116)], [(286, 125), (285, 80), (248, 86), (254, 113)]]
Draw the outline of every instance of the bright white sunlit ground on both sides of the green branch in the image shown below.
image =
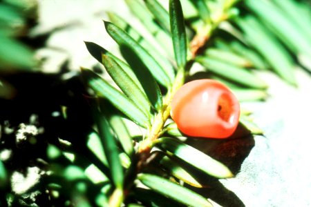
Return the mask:
[[(75, 70), (93, 66), (97, 61), (88, 54), (83, 41), (93, 41), (116, 52), (115, 43), (104, 30), (104, 11), (113, 10), (130, 18), (122, 0), (39, 2), (42, 16), (37, 32), (64, 27), (48, 40), (48, 46), (57, 50), (39, 52), (50, 57), (44, 66), (48, 72), (57, 71), (66, 57), (70, 57), (70, 68)], [(136, 22), (131, 19), (131, 23)], [(271, 97), (265, 103), (247, 103), (245, 107), (254, 111), (265, 137), (255, 137), (255, 146), (236, 178), (221, 182), (245, 206), (311, 206), (310, 76), (297, 72), (298, 89), (274, 75), (262, 76), (270, 85)]]

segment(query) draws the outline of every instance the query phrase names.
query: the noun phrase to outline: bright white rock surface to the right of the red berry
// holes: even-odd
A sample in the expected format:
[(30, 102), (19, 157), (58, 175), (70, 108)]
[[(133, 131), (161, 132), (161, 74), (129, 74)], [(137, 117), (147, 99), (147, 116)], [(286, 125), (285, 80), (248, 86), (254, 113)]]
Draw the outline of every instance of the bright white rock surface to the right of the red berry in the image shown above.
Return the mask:
[(221, 181), (245, 206), (311, 206), (311, 79), (302, 71), (296, 75), (299, 88), (264, 75), (270, 98), (249, 104), (265, 137), (254, 137), (241, 172)]

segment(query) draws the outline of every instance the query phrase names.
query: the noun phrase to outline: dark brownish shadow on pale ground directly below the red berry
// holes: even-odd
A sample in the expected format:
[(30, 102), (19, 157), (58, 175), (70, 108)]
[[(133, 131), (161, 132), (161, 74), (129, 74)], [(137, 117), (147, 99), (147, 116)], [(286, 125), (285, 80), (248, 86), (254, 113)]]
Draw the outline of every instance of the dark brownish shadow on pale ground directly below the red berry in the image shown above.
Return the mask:
[[(228, 139), (194, 138), (188, 139), (187, 144), (222, 162), (236, 175), (240, 172), (243, 161), (254, 147), (255, 141), (250, 132), (242, 124), (239, 124), (234, 135)], [(221, 206), (245, 206), (243, 201), (234, 192), (225, 188), (218, 179), (207, 177), (206, 175), (198, 176), (198, 181), (208, 184), (208, 187), (194, 188), (189, 186), (191, 190), (211, 198)]]

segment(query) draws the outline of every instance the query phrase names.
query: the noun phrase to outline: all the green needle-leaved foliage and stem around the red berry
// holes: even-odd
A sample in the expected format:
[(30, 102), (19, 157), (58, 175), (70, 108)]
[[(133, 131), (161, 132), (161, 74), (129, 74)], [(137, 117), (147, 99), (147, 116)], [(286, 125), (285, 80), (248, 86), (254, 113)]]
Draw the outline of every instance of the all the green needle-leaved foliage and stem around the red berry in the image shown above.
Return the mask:
[[(272, 69), (296, 86), (299, 56), (311, 56), (311, 12), (304, 1), (126, 0), (126, 4), (149, 34), (109, 12), (111, 22), (105, 19), (104, 27), (122, 57), (85, 42), (111, 79), (82, 68), (77, 79), (83, 83), (73, 87), (80, 90), (68, 89), (66, 101), (56, 103), (63, 114), (46, 121), (50, 134), (45, 139), (31, 134), (18, 145), (9, 141), (12, 132), (0, 137), (1, 144), (16, 154), (12, 161), (0, 160), (0, 192), (4, 192), (0, 204), (211, 206), (203, 190), (191, 189), (207, 191), (209, 181), (229, 179), (234, 173), (221, 159), (198, 150), (189, 141), (194, 137), (178, 130), (170, 119), (174, 93), (185, 80), (201, 75), (225, 83), (241, 102), (263, 101), (268, 86), (255, 70)], [(32, 68), (31, 50), (8, 35), (10, 21), (23, 21), (23, 16), (17, 8), (3, 8), (0, 68)], [(202, 70), (192, 75), (195, 66)], [(5, 80), (0, 83), (3, 91), (9, 90)], [(261, 134), (249, 113), (242, 112), (231, 138)], [(39, 168), (40, 181), (15, 193), (8, 185), (13, 172), (19, 171), (12, 162), (32, 150), (40, 154), (25, 157), (28, 162), (23, 166), (17, 161), (17, 166), (25, 172), (32, 162), (44, 166)]]

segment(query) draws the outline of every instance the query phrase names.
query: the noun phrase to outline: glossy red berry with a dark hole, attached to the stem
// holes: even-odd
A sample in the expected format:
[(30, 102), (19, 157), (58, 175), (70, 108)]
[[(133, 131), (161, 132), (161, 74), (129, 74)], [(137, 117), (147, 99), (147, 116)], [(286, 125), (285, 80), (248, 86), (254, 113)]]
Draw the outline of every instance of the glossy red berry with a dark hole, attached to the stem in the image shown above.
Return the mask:
[(171, 117), (185, 135), (227, 138), (238, 126), (240, 105), (223, 83), (200, 79), (185, 83), (176, 92)]

